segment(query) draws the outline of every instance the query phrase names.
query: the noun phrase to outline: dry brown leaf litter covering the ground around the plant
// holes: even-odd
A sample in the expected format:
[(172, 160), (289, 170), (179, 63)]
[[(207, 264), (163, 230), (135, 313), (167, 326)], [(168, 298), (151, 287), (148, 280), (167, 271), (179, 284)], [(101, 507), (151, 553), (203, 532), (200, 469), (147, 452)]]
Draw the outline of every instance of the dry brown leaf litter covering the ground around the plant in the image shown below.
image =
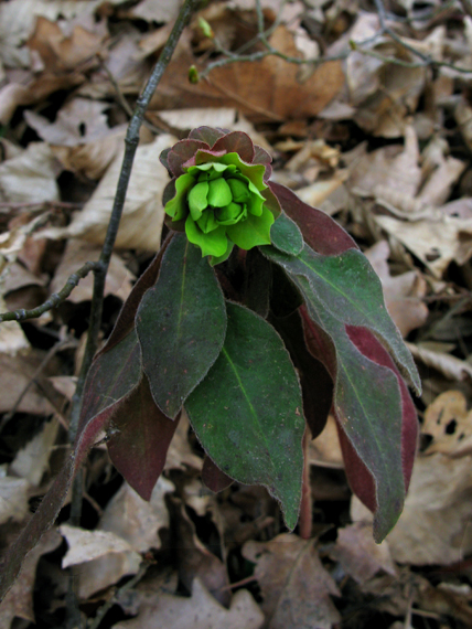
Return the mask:
[[(2, 310), (37, 306), (98, 257), (129, 111), (179, 4), (0, 6)], [(6, 629), (61, 626), (72, 565), (89, 625), (109, 606), (100, 628), (472, 625), (472, 18), (469, 2), (385, 6), (379, 15), (364, 2), (262, 1), (265, 26), (275, 25), (270, 45), (299, 62), (332, 61), (236, 61), (197, 85), (189, 67), (204, 72), (222, 49), (248, 44), (257, 14), (255, 2), (232, 0), (193, 17), (147, 113), (103, 334), (160, 247), (168, 173), (159, 153), (200, 125), (249, 132), (272, 156), (275, 181), (357, 239), (421, 370), (421, 440), (398, 525), (374, 544), (369, 513), (356, 499), (350, 504), (331, 422), (310, 445), (307, 542), (283, 532), (262, 488), (208, 492), (200, 445), (182, 418), (150, 502), (122, 482), (103, 447), (94, 449), (82, 527), (65, 523), (65, 507), (0, 605)], [(58, 309), (1, 326), (2, 547), (67, 450), (90, 297), (89, 277)]]

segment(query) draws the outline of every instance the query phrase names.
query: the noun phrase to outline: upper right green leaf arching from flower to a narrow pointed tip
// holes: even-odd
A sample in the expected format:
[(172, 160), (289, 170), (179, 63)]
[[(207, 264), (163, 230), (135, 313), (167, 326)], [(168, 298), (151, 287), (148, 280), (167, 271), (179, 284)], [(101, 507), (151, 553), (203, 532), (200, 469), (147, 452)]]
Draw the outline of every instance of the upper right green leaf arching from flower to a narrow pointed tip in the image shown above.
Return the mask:
[[(265, 247), (262, 253), (281, 265), (290, 277), (305, 277), (310, 295), (335, 319), (373, 331), (391, 352), (417, 393), (421, 383), (411, 353), (385, 307), (382, 284), (367, 258), (357, 249), (337, 256), (315, 254), (308, 245), (298, 257)], [(307, 298), (307, 296), (305, 296)]]

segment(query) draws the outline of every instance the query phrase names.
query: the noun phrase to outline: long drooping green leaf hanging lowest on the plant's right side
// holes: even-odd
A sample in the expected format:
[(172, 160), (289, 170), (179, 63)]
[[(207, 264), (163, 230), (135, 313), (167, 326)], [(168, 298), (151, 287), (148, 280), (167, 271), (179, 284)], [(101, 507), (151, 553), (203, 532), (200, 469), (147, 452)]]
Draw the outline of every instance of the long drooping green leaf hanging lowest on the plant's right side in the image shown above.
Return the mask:
[(335, 383), (333, 406), (341, 430), (372, 477), (373, 491), (360, 498), (368, 500), (375, 513), (374, 536), (382, 541), (397, 522), (405, 500), (398, 380), (390, 369), (364, 356), (345, 326), (329, 312), (320, 314), (307, 303), (303, 313), (307, 345), (313, 347), (314, 354), (322, 350)]

